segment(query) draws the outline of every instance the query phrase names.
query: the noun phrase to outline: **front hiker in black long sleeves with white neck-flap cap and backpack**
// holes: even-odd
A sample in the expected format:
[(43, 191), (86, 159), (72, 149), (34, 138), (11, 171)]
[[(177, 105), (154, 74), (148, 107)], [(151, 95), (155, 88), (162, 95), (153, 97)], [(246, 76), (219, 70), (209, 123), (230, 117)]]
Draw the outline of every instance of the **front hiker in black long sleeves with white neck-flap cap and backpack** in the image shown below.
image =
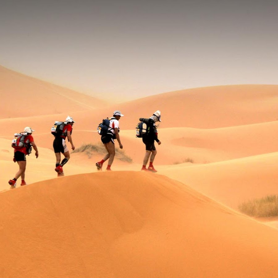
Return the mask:
[[(151, 171), (155, 173), (157, 171), (154, 169), (153, 162), (157, 151), (154, 145), (154, 141), (156, 141), (158, 145), (161, 144), (161, 141), (159, 141), (158, 139), (158, 133), (155, 123), (161, 122), (161, 112), (157, 110), (150, 118), (140, 118), (139, 121), (140, 123), (138, 123), (136, 128), (136, 137), (142, 138), (142, 141), (146, 147), (141, 171)], [(149, 161), (149, 158), (150, 164), (147, 169), (146, 165)]]

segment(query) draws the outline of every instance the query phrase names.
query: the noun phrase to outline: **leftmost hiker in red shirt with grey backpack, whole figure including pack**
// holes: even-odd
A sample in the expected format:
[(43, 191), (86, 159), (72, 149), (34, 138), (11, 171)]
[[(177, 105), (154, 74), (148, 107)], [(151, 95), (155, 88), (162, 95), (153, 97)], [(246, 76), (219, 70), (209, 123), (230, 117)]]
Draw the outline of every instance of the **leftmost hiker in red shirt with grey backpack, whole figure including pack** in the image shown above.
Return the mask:
[(14, 152), (14, 162), (17, 162), (19, 165), (19, 171), (15, 174), (13, 179), (10, 179), (8, 183), (11, 185), (11, 189), (16, 187), (16, 181), (21, 177), (20, 186), (26, 185), (25, 182), (25, 170), (26, 170), (26, 155), (31, 154), (32, 147), (36, 151), (36, 158), (39, 156), (38, 148), (34, 142), (34, 138), (32, 136), (33, 133), (32, 128), (26, 127), (24, 131), (21, 133), (15, 133), (15, 138), (12, 141), (12, 147), (15, 149)]

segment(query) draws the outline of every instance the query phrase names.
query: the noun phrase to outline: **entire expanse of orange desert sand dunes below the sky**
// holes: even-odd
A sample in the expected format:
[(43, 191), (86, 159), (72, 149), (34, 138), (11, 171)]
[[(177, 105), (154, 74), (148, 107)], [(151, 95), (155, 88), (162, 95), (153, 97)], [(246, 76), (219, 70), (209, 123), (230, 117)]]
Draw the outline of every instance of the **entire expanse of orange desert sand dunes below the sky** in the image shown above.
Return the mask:
[[(0, 277), (276, 276), (276, 219), (248, 217), (238, 205), (277, 194), (278, 85), (113, 105), (3, 67), (0, 80)], [(158, 109), (158, 172), (141, 172), (145, 148), (135, 127)], [(124, 114), (124, 148), (113, 171), (97, 171), (96, 128), (114, 110)], [(50, 128), (68, 115), (76, 148), (99, 152), (71, 153), (57, 178)], [(18, 170), (11, 140), (25, 126), (35, 129), (39, 157), (27, 156), (27, 186), (19, 179), (10, 189)]]

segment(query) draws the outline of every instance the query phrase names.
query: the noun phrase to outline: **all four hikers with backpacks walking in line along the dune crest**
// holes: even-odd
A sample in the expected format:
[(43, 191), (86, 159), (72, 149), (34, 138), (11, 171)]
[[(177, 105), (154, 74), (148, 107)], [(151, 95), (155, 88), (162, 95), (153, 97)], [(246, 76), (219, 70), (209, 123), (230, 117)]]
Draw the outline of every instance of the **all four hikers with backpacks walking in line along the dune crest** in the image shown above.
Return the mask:
[[(101, 134), (101, 141), (105, 149), (107, 150), (107, 154), (101, 161), (95, 163), (97, 170), (102, 170), (104, 162), (108, 160), (106, 170), (111, 171), (111, 165), (115, 157), (115, 139), (118, 141), (120, 149), (123, 148), (119, 135), (119, 120), (122, 116), (124, 115), (120, 111), (116, 110), (113, 112), (112, 117), (107, 118), (107, 126), (105, 128), (101, 128), (101, 126), (99, 126), (98, 128), (98, 132), (99, 134)], [(146, 150), (141, 171), (151, 171), (155, 173), (157, 171), (153, 166), (153, 162), (157, 151), (154, 145), (154, 141), (156, 141), (158, 145), (161, 144), (161, 141), (158, 139), (156, 126), (157, 122), (161, 122), (161, 112), (157, 110), (152, 116), (150, 116), (150, 118), (140, 118), (139, 121), (140, 123), (138, 123), (137, 125), (136, 136), (142, 138)], [(67, 116), (64, 122), (55, 122), (55, 125), (51, 129), (51, 133), (55, 137), (53, 141), (53, 149), (56, 156), (55, 171), (57, 172), (58, 177), (64, 175), (63, 166), (70, 159), (70, 151), (65, 141), (66, 138), (68, 138), (68, 141), (71, 144), (71, 149), (75, 149), (71, 136), (74, 123), (75, 121), (73, 120), (73, 118)], [(105, 131), (101, 131), (101, 129), (105, 129)], [(8, 183), (11, 185), (11, 189), (15, 188), (16, 181), (19, 179), (19, 177), (21, 177), (20, 186), (26, 185), (26, 155), (31, 153), (32, 148), (34, 148), (36, 152), (36, 158), (38, 158), (39, 156), (38, 148), (32, 136), (32, 133), (34, 131), (35, 130), (33, 130), (32, 128), (26, 127), (24, 128), (23, 132), (16, 133), (15, 138), (12, 141), (12, 146), (15, 149), (13, 161), (18, 163), (19, 170), (16, 172), (15, 177), (8, 181)], [(61, 154), (64, 155), (62, 161)], [(150, 162), (147, 168), (146, 166), (149, 159)]]

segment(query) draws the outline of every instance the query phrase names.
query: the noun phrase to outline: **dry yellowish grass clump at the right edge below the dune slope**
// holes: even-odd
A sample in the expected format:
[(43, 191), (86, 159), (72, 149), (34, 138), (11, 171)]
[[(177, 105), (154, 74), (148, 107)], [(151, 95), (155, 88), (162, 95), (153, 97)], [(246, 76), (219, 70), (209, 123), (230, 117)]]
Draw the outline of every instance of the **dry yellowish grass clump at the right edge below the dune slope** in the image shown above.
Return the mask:
[(278, 216), (278, 196), (268, 195), (260, 199), (244, 202), (238, 209), (252, 217)]

